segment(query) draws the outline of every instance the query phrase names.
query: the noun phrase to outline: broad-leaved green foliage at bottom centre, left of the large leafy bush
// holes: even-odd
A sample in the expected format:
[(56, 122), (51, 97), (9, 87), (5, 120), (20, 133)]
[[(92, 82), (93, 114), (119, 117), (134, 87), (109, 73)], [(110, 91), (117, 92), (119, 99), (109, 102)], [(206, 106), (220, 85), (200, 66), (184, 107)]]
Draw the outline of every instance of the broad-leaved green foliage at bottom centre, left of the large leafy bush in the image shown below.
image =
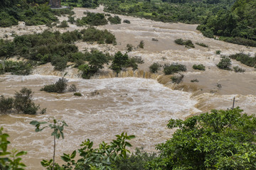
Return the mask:
[[(117, 161), (117, 159), (127, 158), (127, 154), (130, 153), (127, 147), (132, 147), (127, 140), (132, 140), (135, 136), (122, 132), (121, 135), (116, 135), (116, 137), (117, 139), (112, 140), (110, 144), (102, 142), (95, 149), (92, 148), (93, 142), (89, 139), (85, 140), (80, 145), (82, 148), (78, 149), (78, 152), (73, 151), (72, 154), (63, 154), (61, 159), (65, 164), (62, 166), (55, 164), (55, 169), (112, 169), (112, 162)], [(75, 159), (77, 153), (79, 153), (79, 159)], [(48, 169), (53, 168), (52, 160), (43, 160), (41, 164)]]

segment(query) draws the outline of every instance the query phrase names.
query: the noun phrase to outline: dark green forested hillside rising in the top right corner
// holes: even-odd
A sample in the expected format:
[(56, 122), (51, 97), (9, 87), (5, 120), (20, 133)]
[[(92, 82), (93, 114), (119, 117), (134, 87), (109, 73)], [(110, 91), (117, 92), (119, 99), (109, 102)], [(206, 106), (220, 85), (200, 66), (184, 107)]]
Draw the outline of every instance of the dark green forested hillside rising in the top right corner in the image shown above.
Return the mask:
[(223, 36), (221, 40), (256, 47), (255, 18), (256, 1), (238, 0), (230, 10), (220, 10), (206, 18), (198, 30), (209, 38), (219, 35)]

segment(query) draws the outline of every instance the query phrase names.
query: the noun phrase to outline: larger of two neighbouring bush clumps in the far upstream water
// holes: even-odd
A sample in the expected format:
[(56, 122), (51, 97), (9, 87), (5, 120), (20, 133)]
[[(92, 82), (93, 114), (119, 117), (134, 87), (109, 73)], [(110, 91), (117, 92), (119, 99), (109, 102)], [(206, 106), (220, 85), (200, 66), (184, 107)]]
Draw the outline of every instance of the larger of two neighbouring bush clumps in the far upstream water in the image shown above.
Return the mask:
[(82, 17), (81, 19), (77, 19), (77, 26), (104, 26), (107, 24), (107, 19), (104, 16), (104, 13), (85, 13), (86, 17)]

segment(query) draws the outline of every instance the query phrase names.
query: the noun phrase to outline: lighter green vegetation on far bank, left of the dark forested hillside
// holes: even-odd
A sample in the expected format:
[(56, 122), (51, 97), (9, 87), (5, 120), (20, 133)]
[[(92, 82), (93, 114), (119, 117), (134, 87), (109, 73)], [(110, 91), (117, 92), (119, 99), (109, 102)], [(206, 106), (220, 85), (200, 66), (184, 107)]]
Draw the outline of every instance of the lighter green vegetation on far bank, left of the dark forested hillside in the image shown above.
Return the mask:
[(225, 0), (102, 0), (105, 11), (137, 16), (166, 23), (202, 23), (207, 16), (214, 16), (220, 9), (229, 8), (232, 1)]

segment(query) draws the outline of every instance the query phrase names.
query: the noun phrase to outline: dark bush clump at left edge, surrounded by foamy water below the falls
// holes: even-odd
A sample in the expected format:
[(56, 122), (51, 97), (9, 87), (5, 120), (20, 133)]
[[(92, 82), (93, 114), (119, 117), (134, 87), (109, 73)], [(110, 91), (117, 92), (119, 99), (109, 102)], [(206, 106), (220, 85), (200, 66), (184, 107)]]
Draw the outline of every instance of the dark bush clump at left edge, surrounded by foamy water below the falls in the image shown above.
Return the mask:
[[(33, 103), (32, 94), (31, 89), (23, 88), (19, 92), (16, 91), (14, 98), (5, 98), (4, 96), (1, 96), (1, 113), (6, 113), (7, 111), (15, 109), (18, 113), (35, 115), (40, 110), (40, 106)], [(43, 114), (45, 112), (46, 108), (43, 108), (41, 113)]]

